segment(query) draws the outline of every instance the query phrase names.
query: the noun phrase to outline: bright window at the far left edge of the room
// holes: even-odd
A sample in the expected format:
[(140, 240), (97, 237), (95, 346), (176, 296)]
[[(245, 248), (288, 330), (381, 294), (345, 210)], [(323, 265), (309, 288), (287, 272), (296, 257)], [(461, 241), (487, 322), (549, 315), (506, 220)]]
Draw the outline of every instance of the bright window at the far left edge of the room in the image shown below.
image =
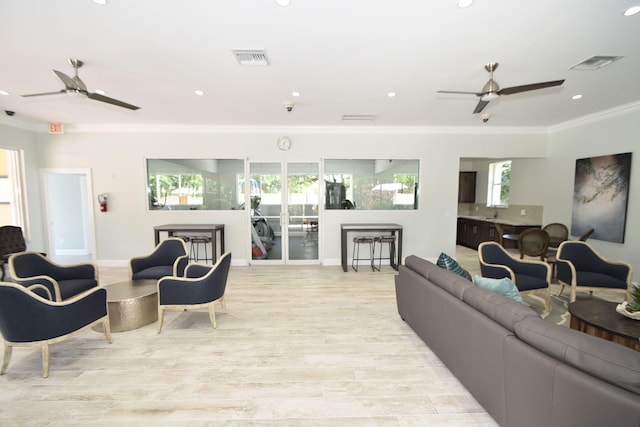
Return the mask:
[(22, 152), (0, 149), (0, 225), (22, 227), (28, 239), (23, 181)]

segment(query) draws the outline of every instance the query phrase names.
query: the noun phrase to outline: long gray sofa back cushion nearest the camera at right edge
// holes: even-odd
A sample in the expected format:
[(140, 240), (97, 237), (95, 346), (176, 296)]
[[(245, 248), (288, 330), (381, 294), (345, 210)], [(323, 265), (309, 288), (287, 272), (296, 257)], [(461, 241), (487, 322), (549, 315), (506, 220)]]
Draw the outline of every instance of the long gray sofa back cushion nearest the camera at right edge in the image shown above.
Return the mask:
[(640, 394), (640, 357), (635, 350), (535, 318), (518, 322), (514, 332), (519, 339), (551, 357)]

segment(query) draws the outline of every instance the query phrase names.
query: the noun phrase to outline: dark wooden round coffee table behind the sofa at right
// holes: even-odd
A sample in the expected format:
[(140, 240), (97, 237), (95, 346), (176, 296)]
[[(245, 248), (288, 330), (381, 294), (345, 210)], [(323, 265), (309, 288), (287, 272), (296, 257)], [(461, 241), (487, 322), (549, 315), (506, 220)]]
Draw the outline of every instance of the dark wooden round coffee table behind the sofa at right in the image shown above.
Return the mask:
[(640, 351), (640, 320), (616, 312), (617, 305), (598, 298), (574, 301), (569, 304), (570, 327)]

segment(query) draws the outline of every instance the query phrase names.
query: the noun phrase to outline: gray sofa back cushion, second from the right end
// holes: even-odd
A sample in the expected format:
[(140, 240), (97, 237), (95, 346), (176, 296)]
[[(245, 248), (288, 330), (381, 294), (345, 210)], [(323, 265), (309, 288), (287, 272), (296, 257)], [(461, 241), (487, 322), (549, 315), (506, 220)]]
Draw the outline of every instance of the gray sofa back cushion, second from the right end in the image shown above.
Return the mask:
[(540, 318), (526, 305), (478, 286), (465, 288), (462, 300), (512, 332), (514, 325), (525, 317)]

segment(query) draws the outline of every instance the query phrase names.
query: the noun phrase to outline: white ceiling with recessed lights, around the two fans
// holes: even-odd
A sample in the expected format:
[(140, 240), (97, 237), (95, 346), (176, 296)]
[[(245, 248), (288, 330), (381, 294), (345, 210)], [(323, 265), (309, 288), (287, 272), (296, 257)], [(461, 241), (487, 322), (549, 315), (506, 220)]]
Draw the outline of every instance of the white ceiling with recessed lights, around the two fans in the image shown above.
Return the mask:
[[(67, 125), (481, 126), (474, 95), (500, 63), (501, 87), (566, 79), (503, 95), (483, 126), (550, 127), (640, 102), (640, 0), (0, 0), (0, 109), (6, 120)], [(232, 49), (264, 49), (241, 67)], [(569, 68), (621, 55), (597, 71)], [(130, 111), (60, 94), (52, 69), (85, 62), (90, 92)], [(201, 89), (205, 96), (195, 96)], [(292, 91), (301, 96), (292, 97)], [(397, 92), (395, 98), (387, 93)], [(574, 101), (573, 95), (583, 98)], [(295, 107), (287, 112), (284, 103)], [(346, 114), (376, 114), (344, 122)]]

